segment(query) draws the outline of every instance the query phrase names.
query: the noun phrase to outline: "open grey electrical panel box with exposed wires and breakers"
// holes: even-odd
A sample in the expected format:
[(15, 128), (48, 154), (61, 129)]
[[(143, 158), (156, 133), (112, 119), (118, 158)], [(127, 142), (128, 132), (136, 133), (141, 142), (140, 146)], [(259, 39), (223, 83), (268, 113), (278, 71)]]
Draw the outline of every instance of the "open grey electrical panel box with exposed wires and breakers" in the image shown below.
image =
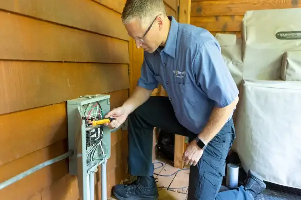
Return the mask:
[(69, 150), (74, 151), (69, 161), (69, 173), (77, 176), (83, 200), (89, 199), (87, 176), (106, 163), (111, 153), (110, 128), (93, 126), (91, 121), (104, 118), (109, 111), (110, 95), (87, 95), (67, 101)]

